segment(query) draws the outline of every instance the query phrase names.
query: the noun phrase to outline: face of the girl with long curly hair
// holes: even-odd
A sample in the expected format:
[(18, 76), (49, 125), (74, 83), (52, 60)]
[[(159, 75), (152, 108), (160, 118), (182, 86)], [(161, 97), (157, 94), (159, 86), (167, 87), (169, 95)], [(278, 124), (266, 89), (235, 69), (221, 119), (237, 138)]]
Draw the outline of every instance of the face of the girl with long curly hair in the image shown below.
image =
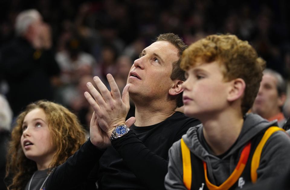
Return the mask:
[(31, 110), (24, 117), (21, 146), (25, 156), (35, 161), (37, 166), (48, 166), (53, 160), (55, 149), (43, 109)]

